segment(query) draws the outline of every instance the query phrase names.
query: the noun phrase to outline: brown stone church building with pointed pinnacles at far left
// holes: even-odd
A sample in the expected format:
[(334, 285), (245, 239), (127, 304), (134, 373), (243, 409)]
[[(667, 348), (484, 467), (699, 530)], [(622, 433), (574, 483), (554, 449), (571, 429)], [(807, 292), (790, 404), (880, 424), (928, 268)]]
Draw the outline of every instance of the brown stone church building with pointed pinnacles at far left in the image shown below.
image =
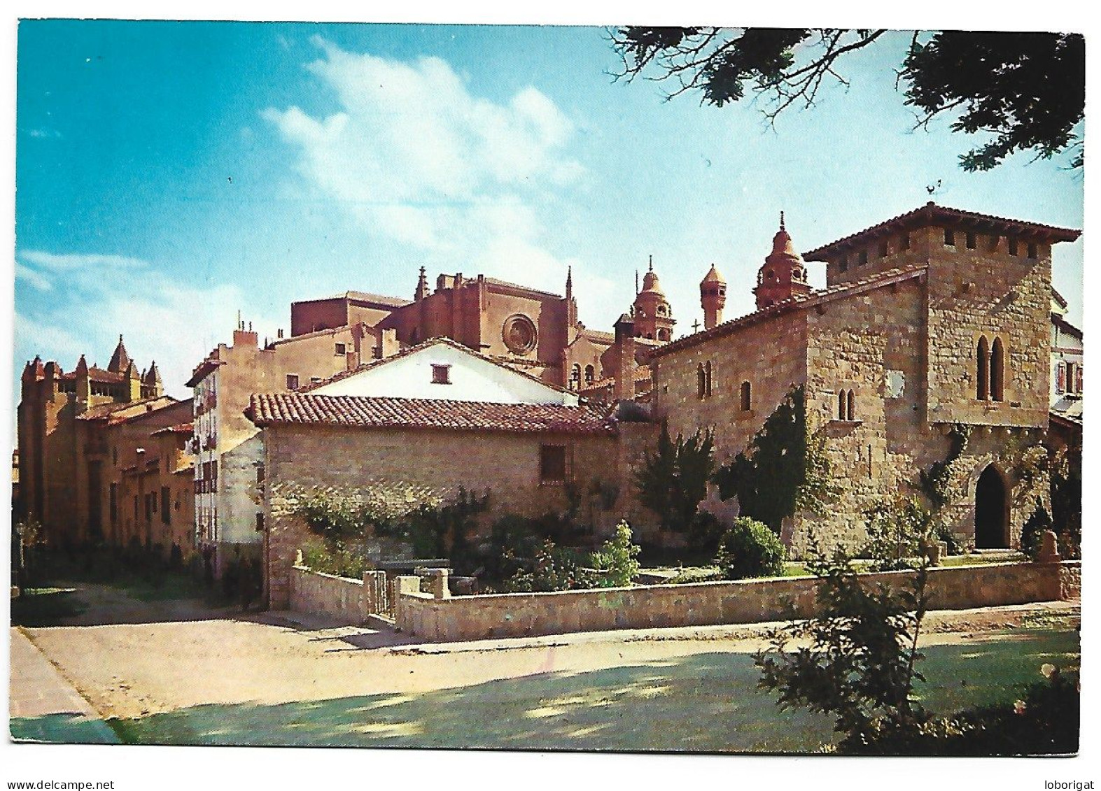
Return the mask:
[[(161, 416), (174, 404), (164, 395), (156, 363), (139, 372), (121, 336), (106, 369), (88, 365), (83, 355), (68, 373), (55, 361), (26, 363), (17, 410), (18, 510), (42, 525), (50, 543), (109, 539), (115, 459), (138, 446), (111, 443), (106, 427), (138, 415)], [(146, 425), (161, 427), (155, 420)]]

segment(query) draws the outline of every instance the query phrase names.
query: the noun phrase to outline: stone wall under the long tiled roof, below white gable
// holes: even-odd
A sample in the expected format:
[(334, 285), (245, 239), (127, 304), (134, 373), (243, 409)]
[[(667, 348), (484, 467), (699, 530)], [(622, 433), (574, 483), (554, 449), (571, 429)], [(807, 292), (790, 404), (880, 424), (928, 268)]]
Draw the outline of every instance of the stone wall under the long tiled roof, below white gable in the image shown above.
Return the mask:
[(490, 493), (479, 531), (504, 514), (539, 516), (566, 506), (565, 486), (539, 483), (539, 446), (567, 446), (582, 492), (617, 470), (615, 438), (554, 433), (272, 426), (264, 430), (269, 602), (285, 607), (287, 569), (309, 539), (296, 515), (304, 496), (407, 503), (453, 501), (459, 487)]

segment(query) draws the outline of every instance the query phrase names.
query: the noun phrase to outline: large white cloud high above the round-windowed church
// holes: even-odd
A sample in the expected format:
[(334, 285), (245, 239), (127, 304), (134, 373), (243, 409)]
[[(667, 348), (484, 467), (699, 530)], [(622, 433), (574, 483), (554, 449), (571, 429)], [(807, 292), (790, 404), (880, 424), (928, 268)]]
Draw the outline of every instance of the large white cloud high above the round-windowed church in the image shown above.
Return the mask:
[[(560, 292), (569, 263), (547, 244), (548, 200), (584, 177), (574, 123), (534, 87), (497, 102), (445, 61), (357, 54), (320, 37), (307, 68), (338, 108), (261, 116), (297, 152), (306, 190), (445, 272), (481, 272)], [(517, 274), (523, 273), (523, 274)]]

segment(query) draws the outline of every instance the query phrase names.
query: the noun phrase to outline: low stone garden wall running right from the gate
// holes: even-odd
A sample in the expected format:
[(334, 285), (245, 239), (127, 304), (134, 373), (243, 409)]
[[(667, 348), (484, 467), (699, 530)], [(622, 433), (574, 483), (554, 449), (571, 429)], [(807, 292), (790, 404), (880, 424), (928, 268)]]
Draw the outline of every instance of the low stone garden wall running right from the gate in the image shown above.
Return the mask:
[[(1012, 563), (933, 569), (935, 609), (967, 609), (1056, 601), (1075, 590), (1078, 563)], [(862, 574), (865, 584), (898, 589), (913, 572)], [(484, 596), (419, 592), (399, 578), (395, 625), (430, 640), (476, 640), (606, 629), (710, 626), (805, 618), (814, 614), (818, 580), (704, 582), (557, 593)], [(1069, 597), (1069, 596), (1067, 596)]]

